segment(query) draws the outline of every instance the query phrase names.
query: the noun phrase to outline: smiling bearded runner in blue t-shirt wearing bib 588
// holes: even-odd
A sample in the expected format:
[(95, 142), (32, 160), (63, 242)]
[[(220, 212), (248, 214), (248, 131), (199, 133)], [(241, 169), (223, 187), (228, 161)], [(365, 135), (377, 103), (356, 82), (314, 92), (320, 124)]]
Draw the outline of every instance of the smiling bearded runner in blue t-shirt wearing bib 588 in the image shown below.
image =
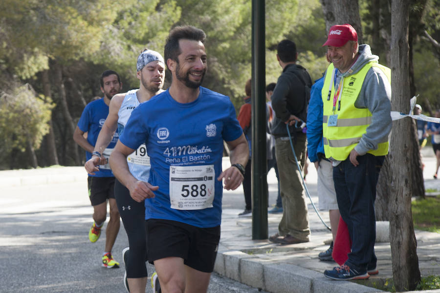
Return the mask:
[[(133, 199), (145, 200), (148, 260), (164, 292), (206, 292), (220, 240), (221, 196), (243, 180), (248, 147), (234, 106), (201, 87), (205, 34), (176, 27), (167, 38), (170, 88), (139, 105), (111, 154), (110, 165)], [(231, 167), (222, 171), (223, 140)], [(145, 143), (148, 182), (129, 171), (127, 156)]]

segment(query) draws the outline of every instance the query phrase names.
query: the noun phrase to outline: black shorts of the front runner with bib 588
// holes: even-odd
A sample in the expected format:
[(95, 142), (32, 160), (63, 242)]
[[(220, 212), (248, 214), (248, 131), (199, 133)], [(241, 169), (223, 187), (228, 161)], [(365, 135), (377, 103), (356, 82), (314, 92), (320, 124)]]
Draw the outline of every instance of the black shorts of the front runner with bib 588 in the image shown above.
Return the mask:
[(147, 228), (148, 261), (180, 257), (190, 268), (212, 272), (220, 241), (220, 226), (198, 228), (181, 222), (149, 219)]

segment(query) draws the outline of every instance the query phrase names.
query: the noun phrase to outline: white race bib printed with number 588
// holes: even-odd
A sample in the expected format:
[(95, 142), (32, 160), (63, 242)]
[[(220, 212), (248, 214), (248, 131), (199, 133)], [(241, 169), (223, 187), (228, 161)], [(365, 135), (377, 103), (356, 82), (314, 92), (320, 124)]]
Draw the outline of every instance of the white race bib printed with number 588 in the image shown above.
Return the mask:
[(212, 208), (215, 175), (214, 165), (170, 166), (171, 208)]

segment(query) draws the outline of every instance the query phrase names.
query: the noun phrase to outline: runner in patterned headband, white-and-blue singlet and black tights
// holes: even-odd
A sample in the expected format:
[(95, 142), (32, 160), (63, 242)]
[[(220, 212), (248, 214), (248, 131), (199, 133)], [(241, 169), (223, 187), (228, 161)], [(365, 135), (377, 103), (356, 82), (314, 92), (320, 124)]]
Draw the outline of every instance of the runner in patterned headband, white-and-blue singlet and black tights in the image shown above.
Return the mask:
[[(99, 154), (109, 145), (116, 130), (119, 136), (122, 135), (133, 109), (163, 92), (165, 62), (158, 52), (144, 49), (137, 57), (136, 71), (136, 77), (140, 81), (139, 88), (117, 94), (110, 101), (109, 116), (99, 132), (93, 155), (84, 166), (91, 175), (99, 171), (98, 166), (101, 164), (102, 158)], [(128, 156), (127, 163), (130, 172), (136, 179), (148, 181), (150, 157), (144, 144)], [(144, 201), (136, 202), (133, 200), (130, 191), (118, 180), (115, 181), (115, 198), (130, 246), (122, 252), (126, 268), (124, 285), (128, 292), (144, 293), (147, 284)], [(154, 289), (155, 292), (158, 291), (157, 288)]]

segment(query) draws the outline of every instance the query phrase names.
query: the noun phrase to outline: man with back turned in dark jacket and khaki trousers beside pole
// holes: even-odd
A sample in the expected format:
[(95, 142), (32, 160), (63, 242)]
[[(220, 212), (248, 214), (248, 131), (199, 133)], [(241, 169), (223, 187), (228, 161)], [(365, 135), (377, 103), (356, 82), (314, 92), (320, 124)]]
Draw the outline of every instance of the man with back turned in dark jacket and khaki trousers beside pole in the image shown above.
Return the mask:
[(290, 134), (298, 162), (304, 168), (307, 139), (301, 126), (307, 120), (312, 81), (307, 70), (296, 64), (297, 57), (295, 42), (283, 40), (278, 44), (277, 60), (283, 72), (272, 94), (272, 108), (276, 117), (271, 134), (275, 137), (283, 217), (278, 233), (270, 236), (269, 240), (280, 244), (308, 242), (310, 235), (302, 172), (295, 163), (289, 138)]

